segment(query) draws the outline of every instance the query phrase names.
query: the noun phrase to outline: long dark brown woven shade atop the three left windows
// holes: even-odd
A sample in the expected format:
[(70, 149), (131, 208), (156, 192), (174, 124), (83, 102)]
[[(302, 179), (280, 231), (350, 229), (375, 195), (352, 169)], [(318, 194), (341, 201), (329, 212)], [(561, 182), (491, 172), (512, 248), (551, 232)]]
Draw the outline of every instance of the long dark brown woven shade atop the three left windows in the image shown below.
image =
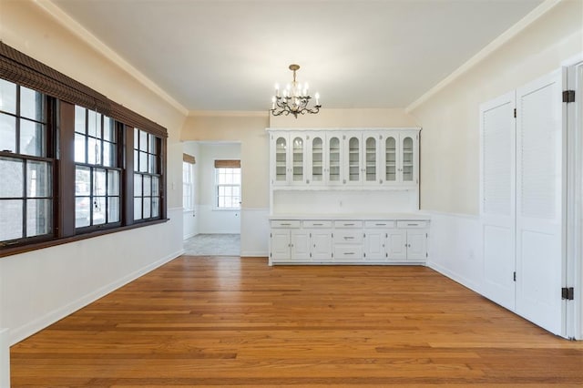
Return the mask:
[(66, 77), (3, 42), (0, 42), (0, 78), (68, 103), (96, 110), (160, 138), (168, 138), (166, 128), (127, 107), (122, 107), (92, 88), (86, 87), (71, 77)]

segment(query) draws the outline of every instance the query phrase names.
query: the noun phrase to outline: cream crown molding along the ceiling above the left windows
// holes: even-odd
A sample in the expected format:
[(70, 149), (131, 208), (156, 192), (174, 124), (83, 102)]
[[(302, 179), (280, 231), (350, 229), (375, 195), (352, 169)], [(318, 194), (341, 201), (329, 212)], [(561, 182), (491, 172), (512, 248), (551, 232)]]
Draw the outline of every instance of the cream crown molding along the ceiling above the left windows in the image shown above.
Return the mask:
[(109, 48), (105, 43), (101, 42), (97, 36), (94, 36), (84, 26), (81, 26), (77, 20), (66, 14), (61, 8), (59, 8), (51, 0), (33, 0), (33, 2), (46, 14), (51, 15), (55, 18), (56, 22), (61, 26), (64, 26), (74, 35), (78, 36), (87, 43), (87, 45), (93, 47), (107, 59), (115, 63), (117, 66), (122, 68), (128, 73), (129, 76), (134, 77), (140, 84), (148, 87), (149, 90), (154, 92), (157, 96), (168, 102), (172, 107), (175, 107), (181, 114), (187, 116), (189, 114), (189, 109), (180, 104), (176, 99), (171, 97), (165, 90), (159, 87), (154, 81), (146, 77), (142, 72), (140, 72), (136, 67), (130, 65), (127, 60), (122, 56), (119, 56), (114, 50)]

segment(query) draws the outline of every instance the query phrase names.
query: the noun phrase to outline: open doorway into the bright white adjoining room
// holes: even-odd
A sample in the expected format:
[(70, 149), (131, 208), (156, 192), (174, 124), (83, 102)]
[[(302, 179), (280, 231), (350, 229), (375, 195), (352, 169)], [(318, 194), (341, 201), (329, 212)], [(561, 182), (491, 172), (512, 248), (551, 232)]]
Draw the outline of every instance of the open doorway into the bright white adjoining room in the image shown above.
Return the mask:
[(185, 254), (240, 256), (240, 143), (192, 141), (184, 149), (196, 159), (191, 176), (183, 170)]

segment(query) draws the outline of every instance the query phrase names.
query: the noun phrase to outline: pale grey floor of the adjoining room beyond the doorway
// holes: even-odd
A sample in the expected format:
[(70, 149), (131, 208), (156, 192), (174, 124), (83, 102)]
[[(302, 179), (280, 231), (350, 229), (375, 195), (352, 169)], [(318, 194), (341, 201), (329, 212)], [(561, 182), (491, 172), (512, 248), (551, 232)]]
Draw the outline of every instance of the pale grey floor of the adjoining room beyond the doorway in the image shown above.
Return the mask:
[(188, 256), (240, 256), (240, 234), (197, 234), (184, 240)]

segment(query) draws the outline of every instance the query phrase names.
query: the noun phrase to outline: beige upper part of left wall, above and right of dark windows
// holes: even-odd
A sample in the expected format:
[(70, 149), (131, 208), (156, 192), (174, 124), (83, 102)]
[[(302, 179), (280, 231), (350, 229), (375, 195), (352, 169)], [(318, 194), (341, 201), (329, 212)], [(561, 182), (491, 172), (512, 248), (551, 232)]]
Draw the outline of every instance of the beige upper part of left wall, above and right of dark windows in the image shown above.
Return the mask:
[[(182, 206), (179, 131), (184, 112), (88, 46), (35, 2), (0, 0), (0, 40), (168, 128), (169, 208)], [(171, 189), (172, 182), (177, 189)]]

